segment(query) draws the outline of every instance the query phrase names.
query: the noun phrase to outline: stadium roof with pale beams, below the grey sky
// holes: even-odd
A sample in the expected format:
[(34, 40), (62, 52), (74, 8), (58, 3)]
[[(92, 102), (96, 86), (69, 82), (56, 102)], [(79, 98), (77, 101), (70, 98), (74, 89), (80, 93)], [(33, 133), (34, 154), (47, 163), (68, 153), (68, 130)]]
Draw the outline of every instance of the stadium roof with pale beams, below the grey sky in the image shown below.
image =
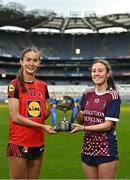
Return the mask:
[(48, 28), (59, 30), (64, 33), (70, 29), (88, 29), (93, 32), (111, 27), (121, 27), (130, 30), (130, 13), (109, 14), (97, 16), (96, 14), (86, 15), (84, 17), (71, 16), (59, 17), (55, 12), (47, 11), (25, 11), (22, 5), (12, 3), (11, 6), (0, 6), (0, 27), (15, 26), (25, 30), (34, 30), (36, 28)]

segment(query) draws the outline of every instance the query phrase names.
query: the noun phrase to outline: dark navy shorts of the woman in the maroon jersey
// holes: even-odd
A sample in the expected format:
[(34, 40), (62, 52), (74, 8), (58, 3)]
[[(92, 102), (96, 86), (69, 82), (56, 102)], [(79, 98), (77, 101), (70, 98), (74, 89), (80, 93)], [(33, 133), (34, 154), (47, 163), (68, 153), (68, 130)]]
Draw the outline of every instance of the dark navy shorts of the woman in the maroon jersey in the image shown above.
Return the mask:
[(111, 156), (87, 156), (85, 154), (81, 154), (81, 161), (87, 165), (97, 166), (99, 164), (111, 162), (114, 160), (118, 160), (118, 157), (111, 157)]

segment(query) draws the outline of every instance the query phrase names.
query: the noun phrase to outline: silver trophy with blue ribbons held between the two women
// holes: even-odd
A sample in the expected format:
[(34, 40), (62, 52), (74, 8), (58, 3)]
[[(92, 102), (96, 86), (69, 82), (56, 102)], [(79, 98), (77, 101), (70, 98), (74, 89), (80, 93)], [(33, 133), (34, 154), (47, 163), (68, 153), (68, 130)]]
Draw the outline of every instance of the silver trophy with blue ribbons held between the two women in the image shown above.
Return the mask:
[[(63, 111), (64, 118), (57, 125), (56, 111)], [(67, 120), (67, 111), (72, 110), (70, 121)], [(78, 99), (70, 96), (63, 96), (60, 100), (52, 99), (52, 126), (57, 132), (71, 131), (71, 124), (74, 123), (78, 112)]]

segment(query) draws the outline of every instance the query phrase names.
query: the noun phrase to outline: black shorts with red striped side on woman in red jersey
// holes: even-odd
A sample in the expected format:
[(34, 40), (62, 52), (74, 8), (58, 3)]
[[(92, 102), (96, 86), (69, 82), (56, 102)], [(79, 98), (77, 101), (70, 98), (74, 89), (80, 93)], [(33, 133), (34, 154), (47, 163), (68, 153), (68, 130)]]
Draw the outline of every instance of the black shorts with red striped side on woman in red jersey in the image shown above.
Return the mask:
[(44, 153), (44, 145), (40, 147), (24, 147), (16, 144), (8, 144), (7, 156), (16, 156), (27, 159), (36, 159)]

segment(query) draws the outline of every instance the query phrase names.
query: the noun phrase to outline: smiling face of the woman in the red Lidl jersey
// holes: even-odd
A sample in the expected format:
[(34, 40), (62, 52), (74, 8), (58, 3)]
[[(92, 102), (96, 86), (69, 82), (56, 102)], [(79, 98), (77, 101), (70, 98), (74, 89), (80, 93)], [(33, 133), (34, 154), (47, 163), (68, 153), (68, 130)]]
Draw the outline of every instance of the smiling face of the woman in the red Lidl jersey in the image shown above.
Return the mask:
[(29, 51), (20, 60), (24, 76), (33, 75), (40, 65), (39, 52)]

